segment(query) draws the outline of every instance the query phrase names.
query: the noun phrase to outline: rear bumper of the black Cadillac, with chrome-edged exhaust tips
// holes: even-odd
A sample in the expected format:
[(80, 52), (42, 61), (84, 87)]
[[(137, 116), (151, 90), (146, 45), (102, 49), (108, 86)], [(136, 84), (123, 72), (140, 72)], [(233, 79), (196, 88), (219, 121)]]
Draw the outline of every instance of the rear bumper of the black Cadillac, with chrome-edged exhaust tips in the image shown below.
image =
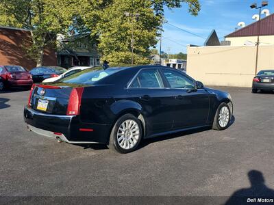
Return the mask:
[(90, 124), (79, 121), (79, 116), (51, 115), (25, 106), (24, 120), (30, 131), (68, 143), (108, 143), (108, 124)]

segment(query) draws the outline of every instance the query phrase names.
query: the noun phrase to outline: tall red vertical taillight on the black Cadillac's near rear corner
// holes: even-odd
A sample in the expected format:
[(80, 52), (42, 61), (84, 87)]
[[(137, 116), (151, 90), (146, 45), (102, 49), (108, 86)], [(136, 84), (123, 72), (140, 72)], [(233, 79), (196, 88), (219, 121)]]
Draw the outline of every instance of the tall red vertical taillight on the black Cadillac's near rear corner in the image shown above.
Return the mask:
[(79, 115), (84, 87), (75, 87), (69, 97), (69, 105), (66, 115)]

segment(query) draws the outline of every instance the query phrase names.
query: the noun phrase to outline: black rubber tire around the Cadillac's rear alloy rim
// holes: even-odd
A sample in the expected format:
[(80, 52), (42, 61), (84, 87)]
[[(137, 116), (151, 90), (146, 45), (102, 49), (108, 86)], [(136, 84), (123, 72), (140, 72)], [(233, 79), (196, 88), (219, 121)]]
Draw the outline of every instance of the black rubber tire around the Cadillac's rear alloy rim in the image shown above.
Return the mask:
[[(132, 148), (123, 148), (119, 144), (119, 141), (118, 141), (119, 139), (117, 136), (119, 133), (120, 126), (122, 126), (122, 124), (125, 123), (127, 120), (133, 120), (134, 122), (136, 122), (135, 126), (138, 126), (138, 129), (139, 129), (138, 139), (132, 140), (132, 142), (134, 142), (134, 146)], [(136, 118), (132, 114), (125, 114), (125, 115), (121, 116), (121, 118), (119, 118), (116, 121), (116, 123), (114, 124), (114, 126), (112, 128), (112, 132), (110, 133), (110, 143), (108, 145), (108, 148), (110, 148), (110, 150), (112, 150), (112, 151), (120, 152), (123, 154), (133, 152), (134, 150), (136, 150), (138, 148), (138, 145), (139, 145), (141, 139), (142, 139), (142, 124), (141, 124), (140, 120), (138, 120), (138, 118)], [(129, 141), (129, 140), (127, 140), (127, 141)]]

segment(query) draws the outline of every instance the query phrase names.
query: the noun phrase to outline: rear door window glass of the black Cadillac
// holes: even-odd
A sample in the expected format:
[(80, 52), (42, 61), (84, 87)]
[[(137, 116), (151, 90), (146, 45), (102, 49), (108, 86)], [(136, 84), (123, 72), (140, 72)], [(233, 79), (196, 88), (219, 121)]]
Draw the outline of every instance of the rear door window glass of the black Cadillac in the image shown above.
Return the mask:
[(133, 88), (158, 88), (164, 87), (158, 70), (142, 70), (132, 82)]

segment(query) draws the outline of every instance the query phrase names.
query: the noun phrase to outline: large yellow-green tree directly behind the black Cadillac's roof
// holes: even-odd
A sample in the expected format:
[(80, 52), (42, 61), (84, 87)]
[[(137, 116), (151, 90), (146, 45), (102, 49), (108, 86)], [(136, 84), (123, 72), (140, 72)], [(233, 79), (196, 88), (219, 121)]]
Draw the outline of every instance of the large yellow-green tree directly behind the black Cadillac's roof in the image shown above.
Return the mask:
[[(110, 61), (111, 64), (131, 64), (132, 51), (134, 64), (149, 63), (149, 48), (158, 42), (158, 31), (164, 21), (164, 7), (179, 8), (183, 3), (187, 3), (192, 15), (197, 15), (200, 10), (199, 0), (102, 2), (96, 18), (83, 18), (92, 31), (91, 35), (99, 42), (98, 49), (102, 59)], [(126, 12), (129, 15), (125, 16)], [(135, 18), (136, 14), (140, 14), (138, 19)]]

